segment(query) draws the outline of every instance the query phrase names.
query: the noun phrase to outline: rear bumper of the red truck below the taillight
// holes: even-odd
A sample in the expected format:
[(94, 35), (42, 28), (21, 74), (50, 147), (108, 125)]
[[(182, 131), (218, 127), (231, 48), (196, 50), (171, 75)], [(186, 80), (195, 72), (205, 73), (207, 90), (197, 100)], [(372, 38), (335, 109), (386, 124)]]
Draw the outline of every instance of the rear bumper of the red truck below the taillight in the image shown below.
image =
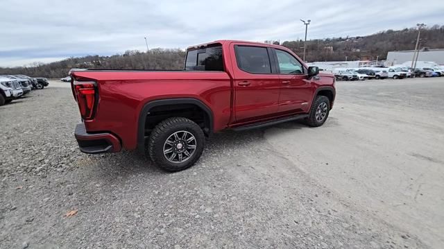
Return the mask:
[(78, 147), (83, 153), (97, 154), (121, 151), (120, 140), (108, 132), (88, 133), (85, 123), (76, 126), (74, 136), (77, 139)]

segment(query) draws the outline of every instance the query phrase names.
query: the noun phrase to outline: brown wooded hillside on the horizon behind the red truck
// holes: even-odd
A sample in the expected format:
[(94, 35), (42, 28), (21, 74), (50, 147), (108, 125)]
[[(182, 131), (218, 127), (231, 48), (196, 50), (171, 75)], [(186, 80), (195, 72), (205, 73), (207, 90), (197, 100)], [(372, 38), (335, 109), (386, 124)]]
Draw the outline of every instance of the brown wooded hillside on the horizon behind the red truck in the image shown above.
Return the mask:
[[(444, 48), (444, 26), (434, 25), (421, 32), (420, 48)], [(379, 60), (386, 58), (388, 51), (414, 49), (418, 31), (405, 28), (401, 31), (381, 31), (361, 37), (336, 37), (307, 41), (307, 61), (335, 60)], [(273, 41), (268, 41), (273, 42)], [(279, 42), (273, 42), (279, 43)], [(302, 57), (304, 42), (285, 41), (282, 46), (298, 53)], [(26, 74), (46, 78), (61, 78), (71, 68), (89, 69), (182, 69), (185, 51), (180, 49), (151, 49), (126, 51), (112, 56), (88, 55), (80, 58), (69, 58), (49, 64), (38, 64), (31, 67), (0, 67), (0, 74)]]

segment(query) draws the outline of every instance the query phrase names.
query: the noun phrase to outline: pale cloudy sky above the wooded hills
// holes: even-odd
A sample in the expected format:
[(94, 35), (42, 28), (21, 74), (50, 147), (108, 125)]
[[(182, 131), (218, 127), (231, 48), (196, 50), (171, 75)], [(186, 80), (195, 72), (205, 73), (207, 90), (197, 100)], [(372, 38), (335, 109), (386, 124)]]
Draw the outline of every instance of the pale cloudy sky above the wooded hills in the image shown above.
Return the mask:
[(144, 37), (150, 49), (304, 39), (300, 19), (311, 19), (307, 40), (444, 24), (442, 0), (1, 0), (0, 10), (0, 67), (144, 51)]

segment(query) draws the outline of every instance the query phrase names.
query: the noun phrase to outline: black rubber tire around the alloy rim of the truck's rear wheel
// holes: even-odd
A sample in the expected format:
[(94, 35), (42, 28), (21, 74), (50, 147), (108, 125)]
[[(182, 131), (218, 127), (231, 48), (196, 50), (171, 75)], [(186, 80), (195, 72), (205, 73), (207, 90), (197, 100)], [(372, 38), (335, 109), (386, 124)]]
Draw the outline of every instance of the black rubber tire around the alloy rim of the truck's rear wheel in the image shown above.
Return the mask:
[[(195, 150), (190, 154), (190, 157), (187, 157), (185, 162), (171, 162), (167, 159), (167, 156), (164, 155), (164, 148), (167, 146), (167, 139), (170, 136), (173, 136), (176, 132), (189, 132), (195, 138), (194, 145), (196, 146)], [(185, 140), (186, 140), (185, 135)], [(181, 138), (182, 139), (182, 138)], [(182, 140), (178, 143), (182, 144), (185, 151), (189, 144)], [(171, 140), (169, 140), (171, 141)], [(191, 140), (192, 141), (192, 140)], [(182, 148), (181, 146), (181, 148)], [(205, 135), (203, 134), (203, 130), (194, 123), (193, 121), (186, 119), (184, 117), (172, 117), (169, 119), (165, 119), (155, 126), (154, 130), (151, 132), (151, 135), (148, 140), (148, 154), (151, 157), (151, 160), (163, 169), (164, 171), (175, 172), (182, 171), (184, 169), (193, 166), (193, 164), (199, 159), (200, 155), (202, 155), (203, 148), (205, 146)], [(178, 150), (176, 146), (170, 147), (173, 150)], [(182, 150), (183, 150), (182, 148)], [(187, 151), (188, 152), (188, 151)], [(171, 155), (175, 154), (173, 152)], [(179, 154), (185, 155), (185, 153), (177, 153), (177, 157)], [(182, 160), (182, 156), (179, 157)], [(178, 158), (178, 160), (179, 160)], [(172, 160), (176, 159), (176, 156), (173, 157)]]

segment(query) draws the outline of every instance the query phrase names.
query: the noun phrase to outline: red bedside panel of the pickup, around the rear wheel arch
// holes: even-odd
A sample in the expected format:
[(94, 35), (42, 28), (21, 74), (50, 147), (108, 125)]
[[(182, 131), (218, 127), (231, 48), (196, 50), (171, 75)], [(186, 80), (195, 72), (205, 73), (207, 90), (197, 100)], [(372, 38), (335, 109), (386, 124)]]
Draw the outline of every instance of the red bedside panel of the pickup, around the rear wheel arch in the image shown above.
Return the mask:
[(225, 72), (186, 71), (78, 71), (76, 80), (94, 80), (99, 101), (87, 132), (112, 132), (123, 148), (135, 149), (139, 114), (148, 102), (166, 98), (196, 98), (214, 113), (214, 131), (228, 125), (231, 80)]

